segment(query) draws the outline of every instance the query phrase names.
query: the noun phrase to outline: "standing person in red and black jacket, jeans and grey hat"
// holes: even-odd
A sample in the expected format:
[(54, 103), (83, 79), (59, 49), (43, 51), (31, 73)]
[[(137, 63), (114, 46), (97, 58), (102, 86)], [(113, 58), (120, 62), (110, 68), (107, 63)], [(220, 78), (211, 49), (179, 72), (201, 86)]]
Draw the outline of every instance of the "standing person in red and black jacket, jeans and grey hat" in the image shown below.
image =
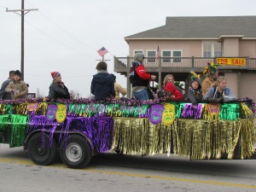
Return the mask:
[(149, 81), (154, 81), (156, 76), (146, 73), (146, 69), (143, 65), (143, 53), (137, 53), (134, 55), (133, 59), (134, 61), (131, 63), (129, 73), (132, 94), (137, 100), (148, 100), (148, 84)]

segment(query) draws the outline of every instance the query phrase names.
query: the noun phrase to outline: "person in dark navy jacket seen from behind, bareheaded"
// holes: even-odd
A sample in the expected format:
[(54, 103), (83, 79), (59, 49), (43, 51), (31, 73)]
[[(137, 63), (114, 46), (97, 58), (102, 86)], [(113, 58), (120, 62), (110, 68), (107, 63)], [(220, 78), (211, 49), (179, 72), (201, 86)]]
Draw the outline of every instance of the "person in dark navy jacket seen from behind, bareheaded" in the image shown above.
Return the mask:
[(97, 73), (93, 75), (90, 84), (90, 92), (95, 96), (96, 100), (104, 100), (115, 96), (114, 80), (108, 73), (107, 63), (101, 61), (96, 66)]

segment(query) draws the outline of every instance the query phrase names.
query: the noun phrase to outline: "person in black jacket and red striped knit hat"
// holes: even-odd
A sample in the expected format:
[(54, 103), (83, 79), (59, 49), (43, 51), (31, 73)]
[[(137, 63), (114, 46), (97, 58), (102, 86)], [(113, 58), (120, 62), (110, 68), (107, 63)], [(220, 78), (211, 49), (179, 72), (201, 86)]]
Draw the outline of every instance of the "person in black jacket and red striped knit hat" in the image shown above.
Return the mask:
[(70, 94), (65, 84), (61, 81), (61, 73), (51, 73), (53, 82), (49, 85), (49, 95), (44, 97), (44, 101), (57, 99), (70, 99)]

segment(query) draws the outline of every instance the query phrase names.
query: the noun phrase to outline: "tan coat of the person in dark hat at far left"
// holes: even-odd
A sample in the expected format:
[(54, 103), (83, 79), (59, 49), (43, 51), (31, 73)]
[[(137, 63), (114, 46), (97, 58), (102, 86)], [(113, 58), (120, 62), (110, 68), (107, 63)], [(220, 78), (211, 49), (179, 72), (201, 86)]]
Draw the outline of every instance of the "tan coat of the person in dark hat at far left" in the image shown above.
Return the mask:
[[(19, 90), (20, 96), (15, 96), (15, 92), (13, 90)], [(12, 100), (25, 99), (28, 88), (24, 81), (19, 80), (10, 82), (9, 85), (5, 88), (5, 91), (11, 93)]]

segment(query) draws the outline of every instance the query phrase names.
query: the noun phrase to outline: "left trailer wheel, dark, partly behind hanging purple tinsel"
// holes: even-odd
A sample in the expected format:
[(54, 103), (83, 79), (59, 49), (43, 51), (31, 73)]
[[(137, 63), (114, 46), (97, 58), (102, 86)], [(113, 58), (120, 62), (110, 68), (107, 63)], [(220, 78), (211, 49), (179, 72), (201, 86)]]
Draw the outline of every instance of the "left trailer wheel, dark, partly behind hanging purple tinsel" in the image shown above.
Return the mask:
[[(44, 138), (44, 139), (43, 139)], [(28, 143), (28, 154), (31, 160), (39, 166), (47, 166), (56, 160), (57, 144), (53, 139), (52, 146), (49, 143), (49, 135), (41, 132), (32, 136)]]

